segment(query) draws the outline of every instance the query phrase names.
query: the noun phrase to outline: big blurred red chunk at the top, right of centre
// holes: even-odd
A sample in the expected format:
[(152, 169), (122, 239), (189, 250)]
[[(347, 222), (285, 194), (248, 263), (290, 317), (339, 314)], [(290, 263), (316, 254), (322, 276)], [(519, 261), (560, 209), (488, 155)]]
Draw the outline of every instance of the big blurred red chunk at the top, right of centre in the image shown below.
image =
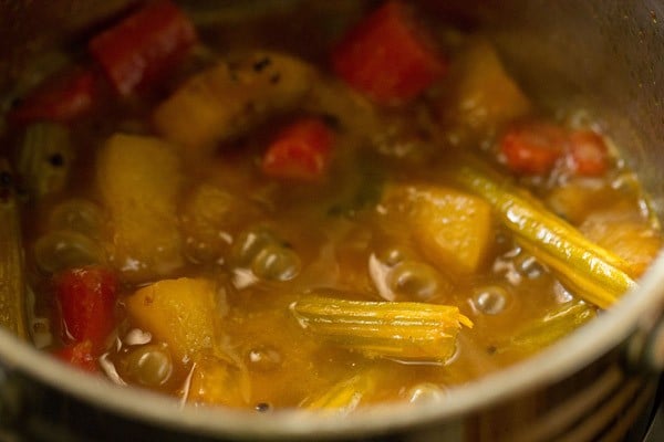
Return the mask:
[(352, 29), (332, 53), (334, 71), (380, 104), (414, 98), (445, 71), (430, 38), (400, 1), (388, 1)]

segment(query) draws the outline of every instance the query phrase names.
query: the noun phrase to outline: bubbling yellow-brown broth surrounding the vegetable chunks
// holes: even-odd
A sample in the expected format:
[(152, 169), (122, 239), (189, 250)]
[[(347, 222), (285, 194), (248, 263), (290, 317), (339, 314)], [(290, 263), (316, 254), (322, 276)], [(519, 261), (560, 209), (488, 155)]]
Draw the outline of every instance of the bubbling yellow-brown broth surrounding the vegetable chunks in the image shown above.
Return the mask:
[[(41, 320), (40, 327), (50, 324), (53, 336), (45, 344), (38, 339), (39, 346), (55, 351), (68, 344), (53, 296), (52, 275), (40, 265), (34, 248), (41, 238), (52, 233), (48, 220), (54, 209), (72, 198), (101, 208), (103, 221), (94, 241), (105, 252), (102, 261), (114, 267), (121, 280), (115, 327), (100, 359), (101, 372), (116, 382), (149, 387), (193, 402), (260, 411), (317, 408), (318, 401), (340, 385), (361, 393), (346, 401), (350, 408), (356, 406), (354, 401), (363, 406), (437, 397), (448, 387), (470, 382), (527, 358), (594, 315), (595, 307), (579, 301), (546, 265), (521, 250), (499, 217), (491, 219), (486, 253), (477, 269), (458, 272), (454, 265), (432, 259), (426, 239), (414, 238), (409, 212), (395, 208), (398, 203), (390, 206), (386, 199), (390, 189), (400, 186), (433, 186), (471, 193), (447, 171), (466, 164), (470, 154), (507, 177), (510, 172), (499, 159), (496, 146), (512, 120), (548, 119), (560, 127), (578, 129), (574, 116), (542, 117), (548, 113), (537, 106), (525, 110), (522, 103), (501, 102), (515, 99), (504, 90), (496, 90), (496, 96), (487, 98), (491, 104), (484, 110), (480, 103), (476, 109), (479, 114), (464, 113), (459, 107), (463, 98), (484, 87), (483, 81), (475, 77), (465, 82), (473, 74), (464, 76), (464, 72), (475, 63), (474, 57), (479, 57), (479, 65), (488, 62), (484, 55), (473, 55), (473, 48), (478, 48), (474, 42), (484, 41), (483, 38), (455, 28), (455, 23), (438, 27), (433, 33), (449, 59), (449, 74), (427, 92), (406, 104), (387, 107), (359, 97), (334, 80), (328, 61), (340, 35), (370, 13), (366, 6), (353, 4), (303, 8), (294, 20), (302, 24), (286, 30), (281, 12), (239, 21), (222, 18), (222, 25), (206, 23), (199, 28), (200, 43), (159, 87), (110, 99), (71, 125), (76, 159), (66, 186), (24, 208), (28, 275), (35, 293), (32, 317), (49, 318), (50, 323)], [(123, 273), (123, 263), (114, 261), (115, 227), (111, 210), (104, 207), (104, 190), (98, 188), (98, 152), (113, 134), (159, 138), (152, 123), (154, 109), (187, 78), (217, 60), (257, 50), (283, 51), (314, 66), (314, 92), (293, 108), (273, 112), (250, 124), (247, 130), (217, 143), (214, 151), (203, 157), (176, 149), (184, 178), (177, 190), (174, 223), (181, 235), (183, 264), (162, 272), (159, 278), (212, 282), (217, 328), (217, 341), (211, 347), (203, 345), (203, 350), (181, 357), (168, 343), (144, 334), (154, 330), (138, 330), (141, 326), (127, 314), (127, 299), (158, 278)], [(483, 112), (489, 115), (488, 119), (478, 117)], [(323, 115), (334, 131), (328, 173), (313, 182), (266, 176), (260, 161), (270, 139), (286, 123), (307, 115)], [(600, 127), (596, 122), (585, 126), (593, 130)], [(6, 138), (19, 144), (23, 130), (18, 127)], [(611, 145), (605, 134), (602, 137)], [(613, 148), (611, 155), (616, 155)], [(601, 245), (610, 249), (611, 239), (620, 238), (620, 250), (614, 252), (639, 261), (640, 269), (660, 246), (660, 233), (645, 197), (615, 157), (601, 177), (571, 177), (562, 167), (546, 177), (517, 173), (511, 180)], [(195, 203), (201, 186), (212, 189), (212, 196), (219, 191), (218, 198), (230, 196), (231, 210), (224, 212), (210, 231), (206, 231), (205, 222), (196, 221), (200, 211), (204, 219), (206, 211), (215, 217), (214, 204), (205, 199), (198, 207)], [(137, 187), (136, 192), (141, 191)], [(299, 260), (294, 277), (267, 281), (260, 275), (264, 270), (260, 266), (268, 264), (238, 261), (237, 249), (247, 233), (266, 230), (273, 234), (272, 245)], [(401, 286), (387, 281), (398, 263), (385, 264), (390, 256), (398, 254), (412, 265), (406, 271), (415, 269), (415, 280)], [(434, 290), (426, 286), (432, 277), (437, 284)], [(393, 284), (391, 293), (386, 294), (385, 284)], [(367, 357), (310, 334), (293, 316), (292, 303), (321, 290), (344, 299), (457, 306), (474, 326), (460, 328), (456, 351), (445, 360)], [(556, 313), (566, 309), (571, 312), (571, 319), (557, 323)], [(558, 327), (549, 335), (548, 323)], [(544, 332), (532, 332), (542, 324)], [(43, 335), (42, 328), (32, 332), (34, 336)], [(138, 372), (142, 369), (136, 368), (137, 358), (141, 351), (149, 349), (157, 349), (156, 359), (142, 369), (166, 370), (166, 375)], [(146, 376), (162, 378), (151, 385)], [(370, 386), (355, 382), (357, 376), (370, 378)]]

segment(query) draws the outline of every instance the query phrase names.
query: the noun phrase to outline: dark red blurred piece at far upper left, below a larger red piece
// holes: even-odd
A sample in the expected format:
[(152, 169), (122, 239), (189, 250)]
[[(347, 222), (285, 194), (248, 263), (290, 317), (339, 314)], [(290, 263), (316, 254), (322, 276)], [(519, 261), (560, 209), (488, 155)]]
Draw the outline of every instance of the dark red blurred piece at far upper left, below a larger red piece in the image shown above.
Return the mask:
[(96, 78), (91, 69), (66, 71), (32, 92), (10, 113), (10, 118), (15, 123), (65, 123), (92, 108), (97, 90)]

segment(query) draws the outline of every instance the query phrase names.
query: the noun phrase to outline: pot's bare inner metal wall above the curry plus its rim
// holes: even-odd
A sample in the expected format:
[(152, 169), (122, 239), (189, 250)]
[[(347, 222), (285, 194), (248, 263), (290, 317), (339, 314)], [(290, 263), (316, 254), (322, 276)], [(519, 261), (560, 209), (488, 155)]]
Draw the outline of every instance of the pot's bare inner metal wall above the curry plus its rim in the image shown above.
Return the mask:
[[(90, 23), (103, 22), (125, 3), (0, 1), (2, 90), (10, 88), (41, 48), (85, 34)], [(237, 8), (237, 3), (189, 1), (185, 7), (205, 10), (220, 4)], [(425, 3), (442, 17), (458, 17), (473, 27), (484, 27), (499, 44), (510, 71), (544, 106), (585, 107), (596, 115), (637, 171), (655, 211), (664, 215), (660, 173), (664, 167), (664, 4), (619, 0)], [(615, 308), (526, 362), (452, 389), (444, 404), (382, 406), (343, 419), (289, 411), (257, 420), (238, 411), (181, 408), (163, 397), (81, 376), (7, 333), (0, 334), (0, 357), (10, 372), (56, 386), (91, 407), (167, 429), (270, 439), (380, 434), (432, 422), (460, 422), (509, 398), (556, 388), (581, 369), (602, 364), (598, 361), (635, 330), (658, 319), (664, 305), (663, 282), (664, 259), (660, 259), (641, 281), (640, 290), (626, 295)]]

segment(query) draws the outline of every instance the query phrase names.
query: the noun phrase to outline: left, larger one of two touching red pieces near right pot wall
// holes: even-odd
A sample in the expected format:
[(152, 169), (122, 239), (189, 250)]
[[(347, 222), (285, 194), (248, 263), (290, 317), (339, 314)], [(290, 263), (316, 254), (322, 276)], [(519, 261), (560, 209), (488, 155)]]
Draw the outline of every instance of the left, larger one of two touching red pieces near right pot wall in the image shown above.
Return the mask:
[(500, 140), (510, 170), (546, 175), (567, 151), (569, 139), (559, 126), (546, 123), (515, 126)]

